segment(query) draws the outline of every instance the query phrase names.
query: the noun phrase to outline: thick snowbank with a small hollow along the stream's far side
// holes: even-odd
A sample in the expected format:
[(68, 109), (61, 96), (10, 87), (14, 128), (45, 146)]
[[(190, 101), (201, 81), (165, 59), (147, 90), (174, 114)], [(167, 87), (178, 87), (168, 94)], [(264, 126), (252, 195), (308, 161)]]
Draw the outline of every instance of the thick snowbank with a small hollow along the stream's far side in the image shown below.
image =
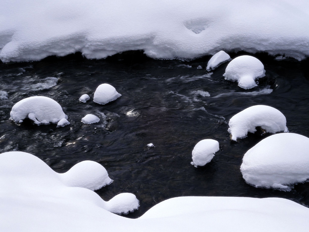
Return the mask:
[(220, 50), (309, 55), (307, 0), (3, 0), (1, 9), (3, 62), (74, 52), (106, 58), (138, 49), (163, 59)]

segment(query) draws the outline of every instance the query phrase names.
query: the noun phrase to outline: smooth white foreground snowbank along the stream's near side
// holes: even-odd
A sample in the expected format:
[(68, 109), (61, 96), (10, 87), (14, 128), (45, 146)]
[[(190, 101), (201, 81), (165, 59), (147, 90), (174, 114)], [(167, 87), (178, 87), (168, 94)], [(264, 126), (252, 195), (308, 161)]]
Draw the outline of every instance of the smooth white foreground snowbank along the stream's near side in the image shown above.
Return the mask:
[(89, 189), (67, 186), (61, 174), (23, 152), (0, 154), (0, 186), (0, 228), (6, 232), (309, 230), (309, 209), (281, 198), (177, 197), (138, 219), (121, 217), (107, 209), (136, 204), (132, 194), (103, 201)]

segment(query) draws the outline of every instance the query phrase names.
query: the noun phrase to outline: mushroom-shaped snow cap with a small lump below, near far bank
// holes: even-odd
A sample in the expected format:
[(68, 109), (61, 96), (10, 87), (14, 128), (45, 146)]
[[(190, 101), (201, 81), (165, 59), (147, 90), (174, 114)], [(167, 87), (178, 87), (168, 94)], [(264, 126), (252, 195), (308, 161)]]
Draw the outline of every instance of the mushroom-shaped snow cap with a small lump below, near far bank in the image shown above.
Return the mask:
[(238, 86), (249, 89), (257, 86), (255, 79), (265, 76), (264, 65), (253, 56), (239, 56), (226, 67), (224, 79), (238, 81)]

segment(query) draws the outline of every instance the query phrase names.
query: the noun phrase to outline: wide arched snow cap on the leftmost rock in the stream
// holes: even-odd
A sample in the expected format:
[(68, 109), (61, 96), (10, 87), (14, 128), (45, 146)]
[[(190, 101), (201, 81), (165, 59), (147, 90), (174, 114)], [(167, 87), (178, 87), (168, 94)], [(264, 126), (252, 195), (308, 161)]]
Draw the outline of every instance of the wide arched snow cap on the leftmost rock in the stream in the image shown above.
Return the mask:
[(57, 101), (43, 96), (28, 97), (17, 102), (10, 115), (15, 122), (29, 118), (37, 125), (57, 123), (62, 118), (68, 118)]

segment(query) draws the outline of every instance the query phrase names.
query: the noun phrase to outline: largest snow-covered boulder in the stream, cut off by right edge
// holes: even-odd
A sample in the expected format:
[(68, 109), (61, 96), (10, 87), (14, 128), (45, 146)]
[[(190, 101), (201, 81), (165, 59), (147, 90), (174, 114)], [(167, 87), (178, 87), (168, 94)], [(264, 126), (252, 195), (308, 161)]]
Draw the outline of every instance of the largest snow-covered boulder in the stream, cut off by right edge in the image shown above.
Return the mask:
[(240, 170), (255, 187), (290, 190), (309, 179), (309, 138), (294, 133), (271, 135), (243, 156)]

